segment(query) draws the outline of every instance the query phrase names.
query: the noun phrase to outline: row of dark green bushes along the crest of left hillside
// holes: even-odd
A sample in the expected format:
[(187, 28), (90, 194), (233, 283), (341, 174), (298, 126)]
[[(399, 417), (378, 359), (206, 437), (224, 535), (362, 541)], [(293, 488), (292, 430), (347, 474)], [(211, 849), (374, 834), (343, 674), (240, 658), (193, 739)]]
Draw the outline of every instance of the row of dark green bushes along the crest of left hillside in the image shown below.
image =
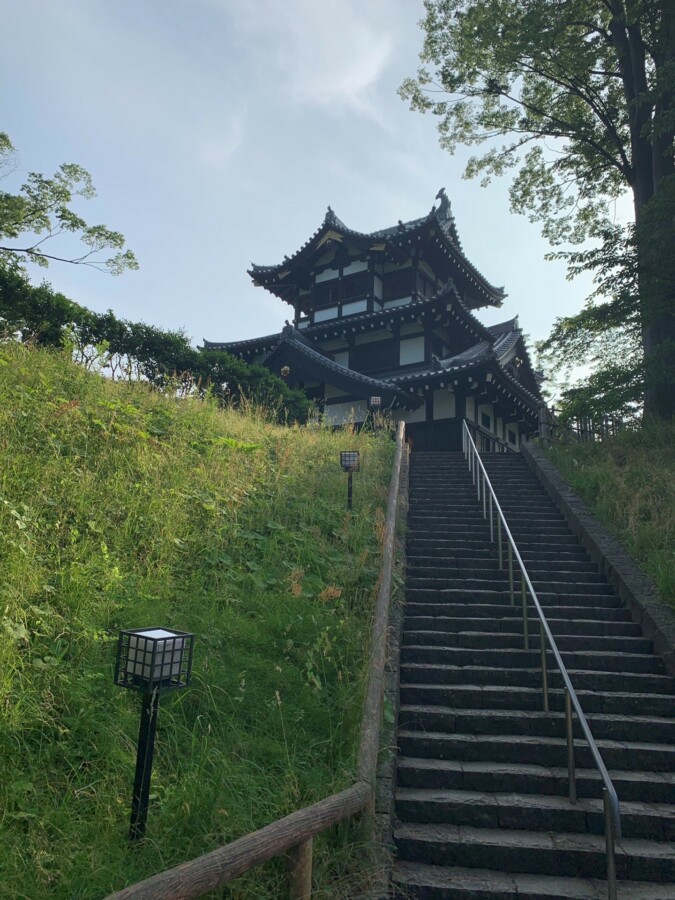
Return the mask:
[(143, 379), (157, 388), (211, 393), (221, 402), (242, 399), (264, 406), (280, 421), (307, 419), (310, 404), (302, 391), (259, 365), (229, 353), (196, 350), (180, 331), (118, 319), (111, 310), (95, 313), (43, 282), (32, 285), (22, 272), (0, 265), (0, 331), (25, 343), (67, 344), (85, 367), (116, 379)]

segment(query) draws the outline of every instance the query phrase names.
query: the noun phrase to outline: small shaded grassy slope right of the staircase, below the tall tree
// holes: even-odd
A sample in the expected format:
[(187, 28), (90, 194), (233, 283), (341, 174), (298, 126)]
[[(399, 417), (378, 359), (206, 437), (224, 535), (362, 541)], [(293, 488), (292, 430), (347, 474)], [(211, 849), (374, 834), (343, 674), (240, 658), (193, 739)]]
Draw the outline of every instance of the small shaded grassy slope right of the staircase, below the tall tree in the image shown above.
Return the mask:
[(574, 490), (675, 604), (675, 424), (548, 451)]

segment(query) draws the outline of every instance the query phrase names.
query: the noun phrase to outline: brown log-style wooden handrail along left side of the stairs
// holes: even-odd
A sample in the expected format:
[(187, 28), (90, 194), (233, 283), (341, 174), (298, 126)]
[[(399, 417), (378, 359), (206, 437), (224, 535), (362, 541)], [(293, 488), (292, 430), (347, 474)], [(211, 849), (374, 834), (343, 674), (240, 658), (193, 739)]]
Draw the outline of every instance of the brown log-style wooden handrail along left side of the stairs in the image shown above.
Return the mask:
[(312, 839), (373, 805), (380, 723), (382, 721), (384, 667), (396, 551), (396, 514), (405, 425), (396, 432), (396, 455), (387, 498), (384, 547), (371, 638), (368, 689), (363, 709), (358, 780), (325, 800), (277, 819), (264, 828), (205, 853), (172, 869), (110, 894), (107, 900), (191, 900), (216, 890), (261, 863), (291, 852), (291, 900), (311, 897)]

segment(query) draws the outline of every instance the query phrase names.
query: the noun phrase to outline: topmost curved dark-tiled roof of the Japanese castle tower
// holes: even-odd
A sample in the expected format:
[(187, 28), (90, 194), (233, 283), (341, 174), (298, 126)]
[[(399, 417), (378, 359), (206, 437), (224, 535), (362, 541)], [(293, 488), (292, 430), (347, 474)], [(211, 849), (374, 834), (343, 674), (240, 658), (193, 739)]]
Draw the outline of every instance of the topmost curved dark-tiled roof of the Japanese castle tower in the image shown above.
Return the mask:
[(249, 275), (255, 284), (266, 287), (283, 300), (289, 301), (289, 291), (294, 285), (293, 272), (310, 262), (312, 255), (329, 240), (343, 240), (350, 237), (357, 245), (360, 244), (364, 251), (369, 251), (384, 250), (385, 247), (396, 247), (403, 242), (411, 243), (412, 239), (422, 236), (437, 235), (436, 240), (454, 260), (462, 277), (474, 285), (481, 294), (484, 303), (476, 305), (500, 306), (506, 296), (504, 288), (491, 284), (465, 256), (444, 188), (440, 189), (436, 199), (440, 200), (440, 205), (432, 206), (428, 215), (409, 222), (399, 221), (397, 225), (371, 232), (348, 228), (329, 206), (321, 225), (299, 250), (291, 256), (285, 256), (283, 262), (274, 265), (252, 263)]

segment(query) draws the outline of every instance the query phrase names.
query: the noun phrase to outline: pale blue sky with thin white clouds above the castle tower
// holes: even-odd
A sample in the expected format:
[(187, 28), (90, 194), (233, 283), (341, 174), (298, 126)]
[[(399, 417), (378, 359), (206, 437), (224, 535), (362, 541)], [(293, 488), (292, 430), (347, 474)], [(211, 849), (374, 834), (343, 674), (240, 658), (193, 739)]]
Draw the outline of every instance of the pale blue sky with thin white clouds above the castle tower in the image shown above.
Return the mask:
[(291, 309), (254, 288), (326, 207), (369, 231), (424, 215), (447, 190), (463, 247), (533, 339), (589, 282), (543, 260), (507, 182), (461, 177), (466, 154), (396, 90), (414, 73), (421, 0), (25, 0), (3, 4), (2, 120), (19, 168), (78, 162), (91, 222), (122, 231), (140, 271), (38, 270), (72, 299), (196, 342), (279, 330)]

